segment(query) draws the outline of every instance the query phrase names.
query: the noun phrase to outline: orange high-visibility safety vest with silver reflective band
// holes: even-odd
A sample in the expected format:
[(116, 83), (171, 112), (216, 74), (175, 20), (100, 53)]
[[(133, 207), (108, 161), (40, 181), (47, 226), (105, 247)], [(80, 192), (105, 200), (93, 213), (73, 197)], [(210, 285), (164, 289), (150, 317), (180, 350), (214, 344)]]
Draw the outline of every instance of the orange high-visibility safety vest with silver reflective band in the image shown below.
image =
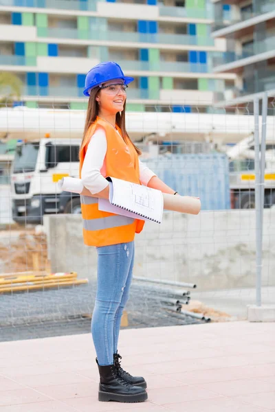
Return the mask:
[[(85, 136), (84, 144), (80, 149), (80, 178), (83, 161), (89, 141), (94, 135), (97, 126), (104, 128), (107, 138), (107, 152), (105, 157), (106, 175), (140, 183), (140, 168), (138, 156), (131, 140), (128, 144), (121, 137), (121, 130), (117, 131), (99, 117), (91, 124)], [(129, 218), (118, 214), (98, 210), (98, 198), (80, 196), (83, 217), (83, 238), (88, 246), (108, 246), (124, 242), (132, 242), (135, 233), (140, 233), (144, 227), (144, 220)]]

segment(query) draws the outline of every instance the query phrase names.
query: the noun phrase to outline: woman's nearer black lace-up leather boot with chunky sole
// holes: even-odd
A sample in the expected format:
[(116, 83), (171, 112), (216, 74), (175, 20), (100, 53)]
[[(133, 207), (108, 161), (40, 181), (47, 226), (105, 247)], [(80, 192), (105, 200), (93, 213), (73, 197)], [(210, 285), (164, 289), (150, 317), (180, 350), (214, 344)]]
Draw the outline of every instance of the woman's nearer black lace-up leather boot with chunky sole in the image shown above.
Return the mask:
[[(96, 358), (98, 364), (98, 359)], [(100, 374), (100, 384), (98, 400), (108, 402), (116, 400), (118, 402), (144, 402), (148, 398), (147, 392), (142, 387), (131, 385), (118, 376), (115, 365), (98, 365)]]

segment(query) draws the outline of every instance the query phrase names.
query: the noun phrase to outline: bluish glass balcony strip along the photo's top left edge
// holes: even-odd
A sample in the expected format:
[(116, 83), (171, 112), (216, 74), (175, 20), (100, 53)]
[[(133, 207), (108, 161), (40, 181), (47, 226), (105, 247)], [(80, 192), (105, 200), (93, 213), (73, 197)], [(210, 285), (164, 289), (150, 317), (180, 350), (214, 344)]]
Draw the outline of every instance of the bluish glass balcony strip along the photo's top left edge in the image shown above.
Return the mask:
[[(100, 0), (98, 0), (100, 1)], [(0, 5), (50, 8), (60, 10), (88, 10), (96, 11), (96, 0), (0, 0)]]

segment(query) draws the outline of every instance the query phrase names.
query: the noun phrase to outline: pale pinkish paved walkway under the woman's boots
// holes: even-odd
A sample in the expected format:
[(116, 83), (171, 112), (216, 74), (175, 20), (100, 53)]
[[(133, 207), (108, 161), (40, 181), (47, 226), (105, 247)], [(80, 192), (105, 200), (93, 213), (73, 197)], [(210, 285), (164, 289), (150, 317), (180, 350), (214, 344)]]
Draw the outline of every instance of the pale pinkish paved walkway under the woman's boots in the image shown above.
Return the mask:
[(89, 334), (0, 343), (0, 412), (275, 411), (275, 324), (122, 330), (122, 366), (148, 400), (98, 402)]

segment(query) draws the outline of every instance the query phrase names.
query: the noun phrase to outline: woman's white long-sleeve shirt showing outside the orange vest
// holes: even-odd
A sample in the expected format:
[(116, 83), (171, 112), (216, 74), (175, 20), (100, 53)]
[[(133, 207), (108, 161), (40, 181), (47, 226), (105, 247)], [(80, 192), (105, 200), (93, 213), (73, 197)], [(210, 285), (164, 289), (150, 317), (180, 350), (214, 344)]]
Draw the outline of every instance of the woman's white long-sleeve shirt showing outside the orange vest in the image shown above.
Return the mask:
[[(118, 133), (118, 132), (117, 132)], [(121, 137), (121, 136), (120, 136)], [(122, 139), (122, 137), (121, 137)], [(103, 128), (97, 128), (94, 135), (91, 137), (83, 167), (81, 170), (81, 180), (83, 185), (95, 194), (104, 190), (109, 185), (109, 182), (104, 178), (101, 170), (106, 170), (105, 156), (107, 152), (107, 138)], [(139, 160), (140, 165), (140, 181), (142, 185), (147, 185), (148, 181), (156, 176), (152, 170), (147, 168), (142, 161)]]

